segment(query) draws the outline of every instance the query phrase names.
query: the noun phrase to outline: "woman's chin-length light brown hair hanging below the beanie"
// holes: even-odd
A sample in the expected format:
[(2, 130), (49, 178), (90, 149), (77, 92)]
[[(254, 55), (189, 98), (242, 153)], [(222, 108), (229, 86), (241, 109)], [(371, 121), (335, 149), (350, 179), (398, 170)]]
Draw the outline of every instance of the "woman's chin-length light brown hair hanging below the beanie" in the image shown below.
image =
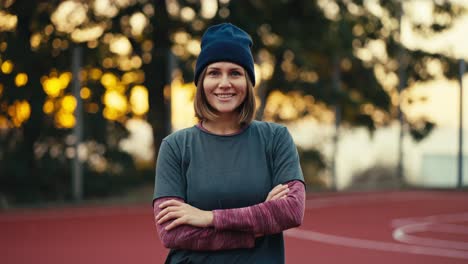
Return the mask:
[[(200, 78), (197, 83), (197, 91), (195, 93), (194, 108), (195, 116), (200, 120), (215, 120), (218, 117), (217, 111), (208, 103), (206, 99), (205, 89), (203, 87), (203, 80), (205, 79), (206, 71), (208, 67), (205, 67), (200, 74)], [(244, 69), (245, 71), (245, 69)], [(252, 81), (249, 75), (245, 71), (245, 78), (247, 80), (246, 95), (244, 102), (236, 109), (237, 122), (239, 125), (247, 125), (252, 122), (255, 116), (256, 105), (255, 105), (255, 94), (253, 90)]]

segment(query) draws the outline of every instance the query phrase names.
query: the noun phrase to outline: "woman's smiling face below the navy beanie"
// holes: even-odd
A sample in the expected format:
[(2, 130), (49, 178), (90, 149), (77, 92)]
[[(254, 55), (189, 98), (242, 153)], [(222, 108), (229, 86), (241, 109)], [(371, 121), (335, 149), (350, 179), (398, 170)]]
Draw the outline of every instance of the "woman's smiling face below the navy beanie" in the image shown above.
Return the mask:
[(220, 116), (233, 115), (247, 93), (246, 72), (235, 63), (212, 63), (206, 69), (203, 89), (208, 103)]

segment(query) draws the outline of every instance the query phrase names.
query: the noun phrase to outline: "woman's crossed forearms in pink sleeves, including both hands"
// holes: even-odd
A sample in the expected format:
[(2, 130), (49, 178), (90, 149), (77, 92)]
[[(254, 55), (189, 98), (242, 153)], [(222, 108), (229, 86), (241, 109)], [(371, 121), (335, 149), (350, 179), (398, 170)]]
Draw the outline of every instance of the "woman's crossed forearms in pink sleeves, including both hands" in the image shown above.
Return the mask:
[(297, 227), (304, 217), (305, 189), (294, 180), (278, 185), (265, 202), (249, 207), (203, 211), (180, 198), (154, 201), (156, 229), (167, 248), (221, 250), (252, 248), (255, 237)]

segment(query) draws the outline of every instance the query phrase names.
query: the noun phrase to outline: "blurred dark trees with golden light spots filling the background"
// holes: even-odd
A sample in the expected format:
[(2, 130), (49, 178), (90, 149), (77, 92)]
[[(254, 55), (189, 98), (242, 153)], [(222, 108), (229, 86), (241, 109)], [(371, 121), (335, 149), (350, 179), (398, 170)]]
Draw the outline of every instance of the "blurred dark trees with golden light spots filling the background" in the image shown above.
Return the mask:
[[(128, 135), (127, 121), (150, 122), (157, 153), (170, 132), (171, 79), (193, 79), (202, 32), (224, 21), (254, 39), (259, 119), (313, 116), (333, 122), (331, 108), (340, 105), (344, 125), (373, 130), (389, 124), (401, 101), (399, 69), (406, 76), (402, 87), (433, 78), (428, 64), (434, 62), (448, 78), (456, 76), (451, 57), (402, 45), (400, 4), (1, 0), (0, 195), (12, 201), (68, 199), (70, 160), (76, 155), (86, 164), (88, 197), (104, 193), (91, 186), (112, 179), (123, 183), (116, 179), (125, 177), (133, 181), (140, 172), (119, 147)], [(455, 2), (433, 5), (438, 19), (413, 23), (419, 32), (442, 32), (465, 13)], [(77, 77), (70, 67), (76, 46), (84, 49), (80, 98), (70, 89)], [(77, 100), (84, 106), (78, 150), (72, 133)], [(417, 139), (433, 127), (425, 117), (408, 121)]]

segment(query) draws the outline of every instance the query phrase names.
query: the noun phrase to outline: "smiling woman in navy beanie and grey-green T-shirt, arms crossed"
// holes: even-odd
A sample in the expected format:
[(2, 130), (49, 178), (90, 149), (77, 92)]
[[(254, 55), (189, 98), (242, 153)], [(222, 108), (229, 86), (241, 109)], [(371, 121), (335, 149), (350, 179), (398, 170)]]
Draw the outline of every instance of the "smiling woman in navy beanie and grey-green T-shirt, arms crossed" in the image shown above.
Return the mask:
[(202, 37), (198, 125), (161, 143), (153, 208), (166, 263), (284, 263), (282, 231), (304, 216), (305, 188), (286, 127), (253, 121), (252, 40), (223, 23)]

